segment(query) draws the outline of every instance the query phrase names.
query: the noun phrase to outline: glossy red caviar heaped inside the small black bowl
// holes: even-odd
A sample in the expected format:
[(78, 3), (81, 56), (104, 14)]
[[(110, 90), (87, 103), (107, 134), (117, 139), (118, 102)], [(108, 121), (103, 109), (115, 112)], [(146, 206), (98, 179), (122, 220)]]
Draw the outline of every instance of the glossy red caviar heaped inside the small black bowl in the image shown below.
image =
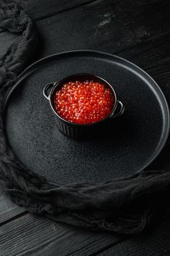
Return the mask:
[(111, 113), (114, 99), (109, 89), (93, 80), (69, 82), (55, 92), (55, 110), (67, 121), (90, 124)]

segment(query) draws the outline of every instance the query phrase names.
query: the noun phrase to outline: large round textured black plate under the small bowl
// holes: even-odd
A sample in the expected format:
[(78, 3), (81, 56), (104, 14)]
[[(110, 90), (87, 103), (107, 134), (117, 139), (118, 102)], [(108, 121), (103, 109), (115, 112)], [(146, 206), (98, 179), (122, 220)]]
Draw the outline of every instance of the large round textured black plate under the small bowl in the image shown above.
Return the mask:
[[(46, 83), (81, 72), (108, 80), (125, 104), (109, 131), (87, 141), (58, 131), (42, 95)], [(26, 167), (59, 184), (98, 183), (128, 176), (155, 159), (169, 133), (169, 109), (161, 89), (139, 67), (107, 53), (78, 50), (28, 67), (6, 97), (4, 122), (9, 145)]]

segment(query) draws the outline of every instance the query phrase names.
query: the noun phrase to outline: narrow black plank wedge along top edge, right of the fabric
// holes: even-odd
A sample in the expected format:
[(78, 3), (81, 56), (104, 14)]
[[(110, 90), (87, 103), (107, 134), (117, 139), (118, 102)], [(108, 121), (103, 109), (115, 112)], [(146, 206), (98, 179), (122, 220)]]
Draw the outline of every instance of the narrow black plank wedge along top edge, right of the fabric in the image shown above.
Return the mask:
[(72, 8), (78, 7), (82, 4), (90, 3), (95, 0), (23, 0), (20, 1), (24, 10), (34, 18), (34, 20), (41, 20), (42, 18), (56, 15), (59, 12), (65, 12)]

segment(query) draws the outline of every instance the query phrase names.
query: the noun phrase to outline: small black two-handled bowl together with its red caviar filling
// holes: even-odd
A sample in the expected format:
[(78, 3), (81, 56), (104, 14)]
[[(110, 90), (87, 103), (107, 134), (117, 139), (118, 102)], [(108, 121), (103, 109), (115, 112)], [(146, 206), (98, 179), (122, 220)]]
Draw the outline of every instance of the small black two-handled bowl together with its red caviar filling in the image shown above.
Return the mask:
[(120, 116), (125, 109), (107, 80), (96, 75), (70, 75), (48, 83), (43, 94), (50, 102), (58, 128), (71, 138), (93, 135), (107, 118)]

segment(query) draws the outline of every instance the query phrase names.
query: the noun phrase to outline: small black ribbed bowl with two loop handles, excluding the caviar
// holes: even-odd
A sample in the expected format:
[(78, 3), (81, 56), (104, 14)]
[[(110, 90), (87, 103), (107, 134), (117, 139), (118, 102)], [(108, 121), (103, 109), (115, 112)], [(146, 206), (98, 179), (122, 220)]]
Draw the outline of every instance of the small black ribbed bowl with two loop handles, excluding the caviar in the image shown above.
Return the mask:
[[(94, 82), (102, 83), (106, 88), (109, 88), (115, 102), (109, 116), (101, 119), (100, 121), (90, 123), (90, 124), (76, 124), (63, 119), (61, 116), (58, 115), (58, 113), (55, 110), (55, 105), (53, 100), (55, 92), (60, 90), (64, 83), (68, 83), (71, 81), (75, 82), (77, 80), (79, 80), (80, 82), (84, 82), (86, 80), (93, 80)], [(60, 80), (59, 82), (48, 83), (43, 90), (43, 94), (45, 98), (48, 99), (50, 102), (50, 106), (53, 110), (53, 113), (55, 114), (55, 121), (58, 128), (65, 135), (68, 135), (69, 137), (76, 138), (76, 139), (86, 138), (89, 135), (93, 135), (98, 131), (98, 128), (104, 126), (104, 123), (105, 121), (107, 121), (108, 118), (115, 118), (117, 116), (120, 116), (123, 114), (125, 110), (123, 103), (120, 102), (120, 100), (117, 100), (115, 90), (112, 88), (112, 86), (107, 82), (107, 80), (104, 80), (103, 78), (100, 78), (96, 75), (89, 75), (89, 74), (69, 75), (68, 77), (63, 78), (63, 80)], [(119, 108), (119, 110), (117, 108)]]

